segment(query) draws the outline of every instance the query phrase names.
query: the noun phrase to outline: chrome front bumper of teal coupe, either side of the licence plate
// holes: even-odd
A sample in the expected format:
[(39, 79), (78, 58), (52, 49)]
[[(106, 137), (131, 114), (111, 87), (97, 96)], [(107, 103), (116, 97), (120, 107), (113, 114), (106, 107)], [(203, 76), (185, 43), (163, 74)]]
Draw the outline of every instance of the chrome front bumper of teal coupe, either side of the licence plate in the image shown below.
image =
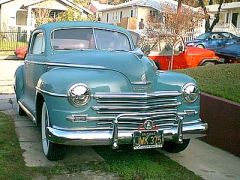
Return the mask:
[[(181, 143), (182, 139), (202, 137), (206, 135), (207, 123), (195, 121), (184, 124), (180, 120), (177, 126), (163, 129), (164, 141)], [(117, 122), (113, 123), (113, 130), (71, 130), (47, 127), (47, 137), (51, 142), (65, 145), (112, 145), (132, 144), (134, 131), (118, 131)]]

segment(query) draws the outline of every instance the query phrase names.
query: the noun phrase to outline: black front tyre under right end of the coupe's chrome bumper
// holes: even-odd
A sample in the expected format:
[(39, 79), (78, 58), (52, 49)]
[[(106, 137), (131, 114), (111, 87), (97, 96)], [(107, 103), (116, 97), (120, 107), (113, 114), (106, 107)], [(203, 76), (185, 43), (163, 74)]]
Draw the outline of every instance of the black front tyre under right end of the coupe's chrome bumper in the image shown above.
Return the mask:
[(163, 144), (163, 149), (170, 153), (179, 153), (187, 148), (190, 139), (184, 139), (182, 144), (178, 144), (172, 141), (166, 141)]

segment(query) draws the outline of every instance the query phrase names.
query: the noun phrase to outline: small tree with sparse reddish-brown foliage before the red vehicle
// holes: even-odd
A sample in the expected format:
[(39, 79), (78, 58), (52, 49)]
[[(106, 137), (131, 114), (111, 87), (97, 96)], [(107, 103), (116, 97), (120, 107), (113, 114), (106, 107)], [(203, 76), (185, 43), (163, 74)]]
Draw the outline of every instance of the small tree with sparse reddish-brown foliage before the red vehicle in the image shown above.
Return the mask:
[(184, 46), (184, 36), (198, 27), (203, 16), (194, 11), (192, 7), (182, 5), (181, 1), (179, 1), (178, 8), (172, 4), (163, 4), (162, 7), (163, 21), (160, 21), (159, 18), (149, 17), (147, 37), (145, 37), (145, 41), (143, 38), (141, 42), (146, 46), (146, 41), (148, 41), (150, 50), (159, 42), (163, 42), (162, 40), (168, 46), (170, 45), (172, 58), (169, 61), (169, 70), (171, 70), (176, 48), (180, 48), (179, 43)]

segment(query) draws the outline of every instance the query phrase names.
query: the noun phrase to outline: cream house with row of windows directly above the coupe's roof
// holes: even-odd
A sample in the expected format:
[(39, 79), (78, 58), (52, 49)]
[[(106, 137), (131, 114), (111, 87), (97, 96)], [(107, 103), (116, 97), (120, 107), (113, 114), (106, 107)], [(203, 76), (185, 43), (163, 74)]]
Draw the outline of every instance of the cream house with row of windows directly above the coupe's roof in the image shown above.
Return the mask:
[(132, 0), (100, 10), (101, 21), (139, 30), (141, 20), (146, 26), (150, 16), (162, 19), (161, 7), (165, 3), (177, 7), (177, 2), (174, 0)]

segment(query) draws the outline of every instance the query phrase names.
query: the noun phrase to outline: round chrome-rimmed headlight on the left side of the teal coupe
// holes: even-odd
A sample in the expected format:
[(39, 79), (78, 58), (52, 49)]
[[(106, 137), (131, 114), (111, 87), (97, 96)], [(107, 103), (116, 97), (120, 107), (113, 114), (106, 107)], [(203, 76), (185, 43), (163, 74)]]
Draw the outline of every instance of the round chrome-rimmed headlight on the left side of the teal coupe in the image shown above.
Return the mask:
[(91, 92), (85, 84), (75, 84), (68, 91), (68, 100), (75, 107), (87, 104), (90, 96)]

